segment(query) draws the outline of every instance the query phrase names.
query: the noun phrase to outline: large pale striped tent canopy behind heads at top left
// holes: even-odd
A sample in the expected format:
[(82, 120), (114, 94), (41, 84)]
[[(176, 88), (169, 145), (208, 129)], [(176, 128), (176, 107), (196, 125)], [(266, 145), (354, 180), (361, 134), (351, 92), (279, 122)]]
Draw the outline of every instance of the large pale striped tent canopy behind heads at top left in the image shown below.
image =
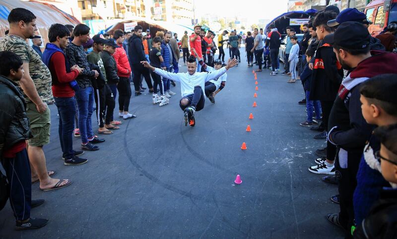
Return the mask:
[(42, 3), (34, 0), (0, 0), (0, 37), (4, 36), (5, 30), (9, 27), (7, 20), (9, 12), (17, 7), (29, 9), (36, 15), (38, 34), (42, 36), (43, 42), (45, 43), (48, 42), (48, 29), (52, 24), (61, 23), (75, 26), (80, 23), (75, 17), (49, 3)]

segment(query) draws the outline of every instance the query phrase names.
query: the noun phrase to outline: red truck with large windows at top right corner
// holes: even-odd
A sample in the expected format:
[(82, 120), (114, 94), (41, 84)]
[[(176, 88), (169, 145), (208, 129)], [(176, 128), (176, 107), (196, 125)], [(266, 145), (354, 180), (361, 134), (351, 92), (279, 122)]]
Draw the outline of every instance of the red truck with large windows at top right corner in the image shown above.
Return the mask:
[(397, 0), (374, 0), (364, 9), (367, 19), (373, 22), (368, 27), (372, 37), (376, 37), (391, 22), (397, 21)]

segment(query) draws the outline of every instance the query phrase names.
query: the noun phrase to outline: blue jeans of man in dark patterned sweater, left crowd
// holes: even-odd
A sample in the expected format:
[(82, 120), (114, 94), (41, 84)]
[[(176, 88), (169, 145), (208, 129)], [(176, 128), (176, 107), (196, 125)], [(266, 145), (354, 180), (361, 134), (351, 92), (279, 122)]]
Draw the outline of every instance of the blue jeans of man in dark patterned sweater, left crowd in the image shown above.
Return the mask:
[(88, 143), (88, 139), (94, 137), (91, 128), (92, 106), (94, 105), (94, 89), (87, 87), (76, 92), (78, 107), (78, 128), (82, 143)]

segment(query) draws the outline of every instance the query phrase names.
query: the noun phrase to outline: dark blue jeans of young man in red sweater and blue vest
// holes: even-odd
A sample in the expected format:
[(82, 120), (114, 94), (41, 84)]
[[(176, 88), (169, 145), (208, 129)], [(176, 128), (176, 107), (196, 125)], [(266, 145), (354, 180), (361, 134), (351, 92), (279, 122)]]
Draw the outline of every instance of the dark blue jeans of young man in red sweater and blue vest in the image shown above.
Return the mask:
[(58, 108), (59, 127), (58, 136), (61, 142), (63, 156), (66, 159), (73, 158), (73, 130), (74, 116), (76, 115), (76, 98), (54, 97), (55, 105)]

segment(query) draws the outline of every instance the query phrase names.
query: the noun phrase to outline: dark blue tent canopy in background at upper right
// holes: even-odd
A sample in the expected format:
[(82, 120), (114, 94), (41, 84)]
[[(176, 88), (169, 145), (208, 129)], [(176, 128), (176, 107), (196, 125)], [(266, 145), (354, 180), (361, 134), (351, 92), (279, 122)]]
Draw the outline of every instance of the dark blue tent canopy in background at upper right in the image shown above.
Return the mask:
[[(317, 10), (315, 9), (309, 9), (307, 11), (289, 11), (289, 12), (284, 12), (283, 14), (275, 17), (273, 20), (271, 20), (265, 27), (266, 30), (270, 30), (270, 24), (276, 25), (276, 28), (281, 34), (286, 34), (285, 29), (290, 25), (289, 19), (290, 18), (311, 18), (316, 14)], [(300, 26), (291, 26), (295, 29), (297, 33), (300, 32)]]

